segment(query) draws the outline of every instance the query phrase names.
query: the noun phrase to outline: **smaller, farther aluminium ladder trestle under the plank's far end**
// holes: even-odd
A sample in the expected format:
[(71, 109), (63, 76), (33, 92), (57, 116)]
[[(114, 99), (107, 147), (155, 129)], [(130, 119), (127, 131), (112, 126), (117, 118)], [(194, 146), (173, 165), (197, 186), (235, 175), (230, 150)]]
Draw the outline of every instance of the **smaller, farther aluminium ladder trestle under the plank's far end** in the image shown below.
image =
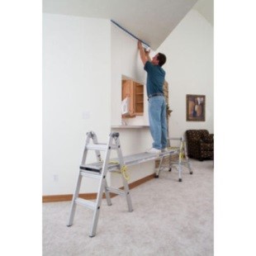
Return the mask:
[[(172, 141), (180, 141), (179, 146), (178, 147), (173, 147), (172, 146)], [(167, 167), (169, 168), (168, 171), (171, 172), (172, 171), (172, 167), (173, 166), (177, 166), (178, 168), (178, 181), (182, 182), (182, 172), (183, 172), (183, 166), (185, 166), (186, 168), (188, 168), (188, 171), (190, 174), (192, 174), (192, 168), (191, 168), (191, 164), (190, 161), (187, 157), (187, 141), (185, 140), (184, 136), (182, 137), (178, 137), (178, 138), (168, 138), (168, 142), (169, 142), (169, 147), (168, 149), (177, 149), (178, 150), (178, 154), (177, 154), (177, 159), (173, 159), (173, 156), (175, 157), (175, 155), (168, 155), (165, 157), (162, 157), (160, 159), (160, 163), (159, 163), (159, 168), (157, 168), (156, 173), (155, 173), (155, 177), (159, 178), (159, 173), (160, 171), (165, 168), (166, 166), (164, 165), (164, 159), (168, 158), (168, 165)]]

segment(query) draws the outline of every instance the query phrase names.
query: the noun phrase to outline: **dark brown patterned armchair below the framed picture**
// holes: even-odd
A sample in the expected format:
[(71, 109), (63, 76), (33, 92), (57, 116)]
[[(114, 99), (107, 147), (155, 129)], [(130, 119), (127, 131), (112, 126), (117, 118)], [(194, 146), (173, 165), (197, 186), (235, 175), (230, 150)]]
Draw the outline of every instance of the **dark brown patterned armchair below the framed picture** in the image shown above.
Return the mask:
[(214, 157), (213, 134), (208, 130), (187, 130), (187, 155), (192, 159), (212, 159)]

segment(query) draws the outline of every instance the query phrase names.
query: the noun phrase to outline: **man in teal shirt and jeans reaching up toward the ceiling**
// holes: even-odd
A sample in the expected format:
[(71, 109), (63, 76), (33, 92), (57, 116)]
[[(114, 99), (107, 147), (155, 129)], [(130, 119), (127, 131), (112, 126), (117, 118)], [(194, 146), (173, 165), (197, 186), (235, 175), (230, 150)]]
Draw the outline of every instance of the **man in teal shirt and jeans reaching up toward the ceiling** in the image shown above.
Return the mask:
[(165, 71), (162, 66), (166, 62), (165, 55), (159, 53), (153, 59), (149, 58), (149, 51), (145, 51), (141, 42), (138, 41), (140, 59), (147, 72), (147, 95), (149, 101), (149, 129), (154, 140), (152, 149), (147, 153), (159, 154), (166, 151), (167, 124), (166, 124), (166, 102), (164, 98)]

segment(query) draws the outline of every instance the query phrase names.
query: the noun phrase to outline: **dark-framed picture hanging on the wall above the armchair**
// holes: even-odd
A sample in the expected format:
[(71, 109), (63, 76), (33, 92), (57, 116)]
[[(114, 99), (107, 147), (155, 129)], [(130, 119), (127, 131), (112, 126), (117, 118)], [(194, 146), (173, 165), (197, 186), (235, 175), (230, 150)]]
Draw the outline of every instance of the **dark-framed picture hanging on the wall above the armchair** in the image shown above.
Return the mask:
[(187, 121), (206, 121), (206, 96), (186, 95)]

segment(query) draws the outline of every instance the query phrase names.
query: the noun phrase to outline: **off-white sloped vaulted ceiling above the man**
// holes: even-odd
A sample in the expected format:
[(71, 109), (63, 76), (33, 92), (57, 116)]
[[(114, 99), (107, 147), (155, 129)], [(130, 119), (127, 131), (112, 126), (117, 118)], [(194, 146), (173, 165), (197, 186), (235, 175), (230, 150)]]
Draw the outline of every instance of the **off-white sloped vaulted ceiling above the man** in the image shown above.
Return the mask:
[[(156, 50), (196, 2), (197, 0), (43, 0), (43, 12), (116, 21)], [(195, 7), (213, 26), (213, 0), (199, 0)]]

